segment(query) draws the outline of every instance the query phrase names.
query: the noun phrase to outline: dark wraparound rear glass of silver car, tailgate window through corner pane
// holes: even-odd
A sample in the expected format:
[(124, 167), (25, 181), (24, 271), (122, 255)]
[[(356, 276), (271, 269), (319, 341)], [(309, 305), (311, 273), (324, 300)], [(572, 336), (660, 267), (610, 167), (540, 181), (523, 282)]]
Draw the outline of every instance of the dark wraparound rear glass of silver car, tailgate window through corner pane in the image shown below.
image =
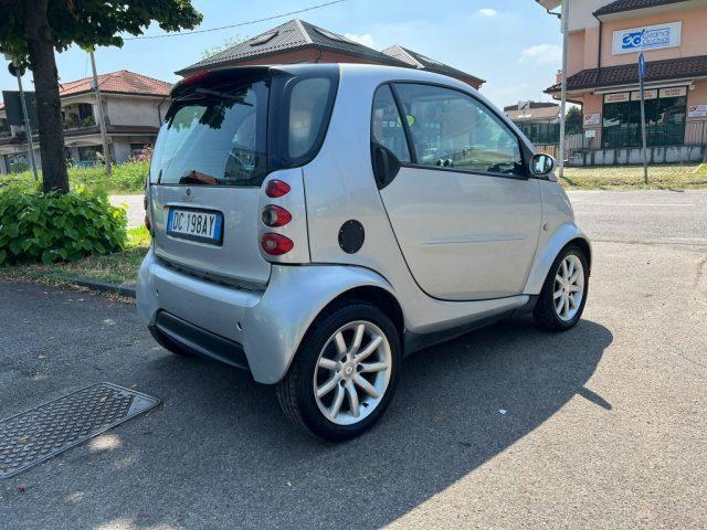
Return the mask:
[(270, 171), (308, 163), (324, 141), (337, 86), (336, 65), (214, 71), (178, 84), (150, 182), (257, 187)]

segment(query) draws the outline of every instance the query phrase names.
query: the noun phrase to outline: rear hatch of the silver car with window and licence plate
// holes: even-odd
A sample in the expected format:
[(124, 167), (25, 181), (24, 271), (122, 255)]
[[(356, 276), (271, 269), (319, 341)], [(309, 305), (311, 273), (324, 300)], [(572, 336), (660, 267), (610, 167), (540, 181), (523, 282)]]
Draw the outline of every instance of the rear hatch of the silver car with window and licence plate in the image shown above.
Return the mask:
[(175, 89), (150, 167), (155, 251), (162, 259), (217, 280), (267, 282), (257, 204), (268, 95), (267, 68), (205, 74)]

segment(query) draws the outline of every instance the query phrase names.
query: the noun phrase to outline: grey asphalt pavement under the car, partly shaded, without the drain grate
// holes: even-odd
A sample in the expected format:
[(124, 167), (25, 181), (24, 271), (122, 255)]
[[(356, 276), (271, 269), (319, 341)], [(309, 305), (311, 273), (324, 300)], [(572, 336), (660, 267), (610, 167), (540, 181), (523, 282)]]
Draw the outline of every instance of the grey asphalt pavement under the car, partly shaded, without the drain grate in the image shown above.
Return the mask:
[(413, 356), (340, 445), (246, 373), (156, 347), (131, 305), (0, 284), (0, 417), (99, 381), (162, 400), (0, 480), (0, 528), (706, 528), (707, 194), (572, 199), (598, 240), (580, 325)]

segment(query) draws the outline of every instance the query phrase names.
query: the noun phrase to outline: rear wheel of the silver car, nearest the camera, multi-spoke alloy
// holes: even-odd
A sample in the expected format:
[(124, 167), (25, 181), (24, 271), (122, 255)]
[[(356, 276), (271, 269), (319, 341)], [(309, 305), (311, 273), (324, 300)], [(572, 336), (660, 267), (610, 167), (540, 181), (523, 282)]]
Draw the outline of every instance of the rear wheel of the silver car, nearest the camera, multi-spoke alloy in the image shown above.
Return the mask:
[[(339, 333), (342, 344), (337, 344)], [(400, 362), (400, 337), (391, 319), (368, 303), (348, 303), (327, 310), (310, 326), (276, 386), (277, 400), (285, 415), (310, 434), (331, 442), (354, 438), (388, 409)]]

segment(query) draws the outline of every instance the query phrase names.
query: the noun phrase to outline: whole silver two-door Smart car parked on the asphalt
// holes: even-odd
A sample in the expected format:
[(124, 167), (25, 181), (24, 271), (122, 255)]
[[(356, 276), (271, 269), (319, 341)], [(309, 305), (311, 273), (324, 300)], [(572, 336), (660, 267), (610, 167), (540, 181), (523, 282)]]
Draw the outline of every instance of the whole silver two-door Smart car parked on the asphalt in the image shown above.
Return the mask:
[(577, 324), (591, 247), (553, 166), (442, 75), (199, 73), (155, 148), (138, 311), (166, 349), (276, 385), (315, 435), (356, 436), (404, 356), (519, 311)]

